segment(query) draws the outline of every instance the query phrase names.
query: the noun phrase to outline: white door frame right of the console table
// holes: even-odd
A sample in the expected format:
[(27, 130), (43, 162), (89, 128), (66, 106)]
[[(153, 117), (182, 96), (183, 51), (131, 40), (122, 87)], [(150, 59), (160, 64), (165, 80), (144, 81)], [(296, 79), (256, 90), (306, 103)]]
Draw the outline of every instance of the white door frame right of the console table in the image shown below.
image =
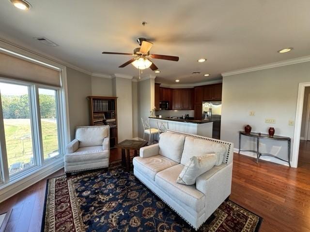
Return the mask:
[(292, 167), (294, 168), (297, 168), (297, 165), (298, 165), (298, 155), (299, 155), (298, 153), (299, 153), (301, 120), (302, 120), (302, 110), (303, 110), (303, 105), (304, 105), (305, 88), (309, 86), (310, 86), (310, 82), (304, 82), (304, 83), (299, 83), (299, 87), (298, 87), (294, 140), (293, 140), (293, 154), (292, 154)]

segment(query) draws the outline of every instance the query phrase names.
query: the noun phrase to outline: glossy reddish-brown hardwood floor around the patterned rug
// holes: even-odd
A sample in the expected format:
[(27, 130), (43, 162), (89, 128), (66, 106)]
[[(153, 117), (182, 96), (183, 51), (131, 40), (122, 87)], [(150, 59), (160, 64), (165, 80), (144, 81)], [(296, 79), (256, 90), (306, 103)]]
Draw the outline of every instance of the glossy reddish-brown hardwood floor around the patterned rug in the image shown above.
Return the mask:
[[(111, 161), (120, 158), (121, 152), (111, 150)], [(263, 217), (260, 232), (310, 231), (310, 164), (297, 169), (263, 160), (257, 164), (236, 153), (233, 162), (230, 199)], [(14, 209), (8, 232), (40, 231), (46, 179), (0, 203), (0, 213)]]

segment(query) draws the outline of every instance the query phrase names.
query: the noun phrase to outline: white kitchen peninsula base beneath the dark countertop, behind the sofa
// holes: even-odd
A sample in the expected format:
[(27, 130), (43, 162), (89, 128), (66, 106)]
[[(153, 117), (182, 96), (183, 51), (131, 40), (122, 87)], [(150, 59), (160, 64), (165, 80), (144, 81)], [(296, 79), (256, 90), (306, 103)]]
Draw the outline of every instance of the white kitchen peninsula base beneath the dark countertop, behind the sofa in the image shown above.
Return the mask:
[(213, 121), (170, 117), (149, 117), (149, 119), (151, 128), (157, 128), (157, 121), (158, 124), (162, 122), (166, 128), (168, 127), (167, 129), (172, 131), (180, 131), (212, 138)]

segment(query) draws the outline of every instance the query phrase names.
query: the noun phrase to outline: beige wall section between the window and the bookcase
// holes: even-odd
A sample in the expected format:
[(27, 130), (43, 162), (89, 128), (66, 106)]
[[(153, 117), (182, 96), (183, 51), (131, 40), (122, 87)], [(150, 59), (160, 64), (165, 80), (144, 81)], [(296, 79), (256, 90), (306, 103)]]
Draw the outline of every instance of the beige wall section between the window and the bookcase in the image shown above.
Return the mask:
[(89, 102), (92, 95), (91, 76), (67, 67), (69, 122), (71, 140), (75, 138), (77, 126), (88, 126)]

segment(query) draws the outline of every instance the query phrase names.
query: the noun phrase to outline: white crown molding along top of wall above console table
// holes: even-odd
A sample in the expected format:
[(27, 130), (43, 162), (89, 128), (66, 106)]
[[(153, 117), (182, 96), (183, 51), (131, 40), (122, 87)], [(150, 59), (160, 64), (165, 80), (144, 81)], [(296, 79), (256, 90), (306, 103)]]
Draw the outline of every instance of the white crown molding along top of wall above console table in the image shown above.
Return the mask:
[(259, 71), (259, 70), (264, 70), (264, 69), (272, 69), (276, 67), (281, 67), (281, 66), (286, 66), (286, 65), (291, 65), (291, 64), (298, 64), (298, 63), (303, 63), (303, 62), (308, 62), (308, 61), (310, 61), (310, 56), (287, 59), (287, 60), (278, 61), (274, 63), (258, 65), (258, 66), (254, 66), (250, 68), (229, 71), (229, 72), (225, 72), (221, 74), (222, 76), (231, 76), (231, 75), (236, 75), (240, 73), (249, 73), (249, 72), (254, 72), (254, 71)]

